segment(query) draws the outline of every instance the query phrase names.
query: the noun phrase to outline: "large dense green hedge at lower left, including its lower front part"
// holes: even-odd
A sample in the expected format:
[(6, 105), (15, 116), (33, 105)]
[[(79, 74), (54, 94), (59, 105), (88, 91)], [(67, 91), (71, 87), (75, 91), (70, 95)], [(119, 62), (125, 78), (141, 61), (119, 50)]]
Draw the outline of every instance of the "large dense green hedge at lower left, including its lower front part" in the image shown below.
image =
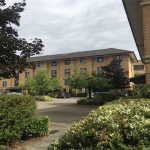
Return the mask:
[(34, 118), (36, 101), (24, 95), (0, 95), (0, 149), (18, 139), (49, 133), (49, 118)]

